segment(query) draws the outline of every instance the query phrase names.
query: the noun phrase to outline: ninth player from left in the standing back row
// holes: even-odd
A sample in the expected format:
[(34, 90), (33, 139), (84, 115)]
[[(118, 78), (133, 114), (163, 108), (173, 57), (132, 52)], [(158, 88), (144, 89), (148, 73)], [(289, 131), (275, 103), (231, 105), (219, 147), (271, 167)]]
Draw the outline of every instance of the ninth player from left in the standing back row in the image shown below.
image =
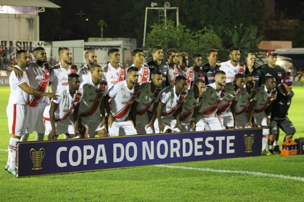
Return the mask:
[(178, 57), (178, 75), (184, 76), (187, 79), (187, 89), (192, 88), (194, 81), (194, 72), (188, 68), (189, 60), (188, 54), (179, 53)]

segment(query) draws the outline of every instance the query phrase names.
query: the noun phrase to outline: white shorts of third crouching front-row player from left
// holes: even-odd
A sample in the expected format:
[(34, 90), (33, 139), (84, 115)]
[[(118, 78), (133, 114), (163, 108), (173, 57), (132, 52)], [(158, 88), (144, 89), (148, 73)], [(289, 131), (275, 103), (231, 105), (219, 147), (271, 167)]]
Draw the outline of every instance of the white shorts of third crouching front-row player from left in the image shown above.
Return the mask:
[(114, 121), (111, 127), (108, 128), (109, 136), (123, 136), (119, 133), (120, 129), (124, 130), (125, 135), (137, 135), (132, 121)]

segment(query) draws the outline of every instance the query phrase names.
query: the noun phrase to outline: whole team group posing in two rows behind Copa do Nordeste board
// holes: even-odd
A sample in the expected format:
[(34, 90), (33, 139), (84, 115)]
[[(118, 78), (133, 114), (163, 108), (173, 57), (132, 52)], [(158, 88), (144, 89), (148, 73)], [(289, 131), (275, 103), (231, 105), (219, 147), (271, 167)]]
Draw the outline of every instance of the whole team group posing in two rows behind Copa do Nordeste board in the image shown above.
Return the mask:
[(16, 174), (17, 143), (34, 131), (35, 140), (56, 140), (60, 134), (74, 139), (259, 127), (264, 156), (280, 153), (279, 129), (284, 141), (292, 139), (296, 130), (287, 117), (292, 79), (276, 65), (274, 49), (259, 67), (254, 53), (242, 64), (235, 46), (226, 62), (209, 49), (206, 64), (200, 54), (174, 48), (164, 54), (160, 45), (150, 51), (146, 62), (144, 51), (134, 49), (129, 67), (120, 65), (118, 48), (108, 50), (104, 67), (94, 51), (87, 51), (87, 64), (78, 68), (67, 47), (58, 49), (55, 66), (43, 47), (33, 49), (33, 61), (19, 50), (17, 65), (9, 66), (11, 138), (5, 170)]

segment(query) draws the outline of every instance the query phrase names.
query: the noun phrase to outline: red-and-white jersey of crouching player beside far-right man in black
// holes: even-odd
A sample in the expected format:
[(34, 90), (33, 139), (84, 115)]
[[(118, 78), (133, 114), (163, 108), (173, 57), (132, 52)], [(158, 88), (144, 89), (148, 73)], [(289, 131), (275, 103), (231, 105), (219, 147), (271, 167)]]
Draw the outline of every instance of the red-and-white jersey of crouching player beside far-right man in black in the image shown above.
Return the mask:
[(267, 87), (262, 85), (258, 88), (256, 94), (256, 102), (254, 105), (254, 113), (261, 113), (265, 111), (277, 97), (277, 91), (271, 90), (270, 93), (267, 92)]

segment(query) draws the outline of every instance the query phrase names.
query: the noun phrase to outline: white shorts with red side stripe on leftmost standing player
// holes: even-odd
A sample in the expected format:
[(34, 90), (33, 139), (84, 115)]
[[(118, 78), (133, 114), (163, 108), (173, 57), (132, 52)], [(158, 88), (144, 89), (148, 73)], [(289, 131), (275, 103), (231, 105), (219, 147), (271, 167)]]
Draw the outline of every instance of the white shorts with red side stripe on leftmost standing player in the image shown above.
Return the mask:
[(7, 107), (7, 116), (9, 123), (9, 132), (18, 137), (25, 133), (27, 119), (26, 119), (26, 105), (9, 104)]

